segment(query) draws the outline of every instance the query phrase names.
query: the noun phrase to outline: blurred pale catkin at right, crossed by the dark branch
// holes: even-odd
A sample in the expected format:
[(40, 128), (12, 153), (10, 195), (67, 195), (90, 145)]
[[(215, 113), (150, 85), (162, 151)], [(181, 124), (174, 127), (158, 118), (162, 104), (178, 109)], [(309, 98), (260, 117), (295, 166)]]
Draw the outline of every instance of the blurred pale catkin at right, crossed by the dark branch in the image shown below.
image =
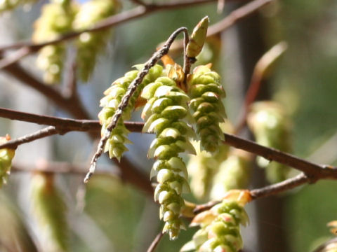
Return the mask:
[[(280, 104), (277, 102), (252, 104), (247, 121), (258, 144), (279, 151), (291, 151), (289, 118)], [(266, 177), (270, 183), (283, 181), (289, 174), (289, 167), (278, 162), (270, 162), (262, 157), (258, 157), (257, 162), (260, 167), (266, 168)]]

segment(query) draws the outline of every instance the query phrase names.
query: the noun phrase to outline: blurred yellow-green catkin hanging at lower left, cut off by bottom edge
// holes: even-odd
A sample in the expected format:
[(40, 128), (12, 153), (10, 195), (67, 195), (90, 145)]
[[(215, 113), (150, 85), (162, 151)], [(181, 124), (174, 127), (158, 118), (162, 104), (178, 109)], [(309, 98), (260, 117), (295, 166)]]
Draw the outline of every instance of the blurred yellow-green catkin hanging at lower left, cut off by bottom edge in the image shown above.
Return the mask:
[(32, 211), (41, 228), (45, 251), (69, 251), (65, 202), (54, 185), (53, 174), (32, 176)]

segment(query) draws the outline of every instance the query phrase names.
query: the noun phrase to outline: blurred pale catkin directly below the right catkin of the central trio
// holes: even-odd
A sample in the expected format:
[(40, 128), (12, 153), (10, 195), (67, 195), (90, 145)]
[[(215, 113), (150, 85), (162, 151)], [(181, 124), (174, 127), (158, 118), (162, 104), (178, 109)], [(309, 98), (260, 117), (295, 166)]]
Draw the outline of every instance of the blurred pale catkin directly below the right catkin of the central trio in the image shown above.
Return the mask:
[(226, 160), (228, 149), (228, 146), (221, 145), (216, 155), (211, 155), (206, 151), (191, 155), (187, 163), (187, 171), (190, 176), (192, 193), (198, 200), (210, 200), (214, 175), (217, 174), (220, 163)]

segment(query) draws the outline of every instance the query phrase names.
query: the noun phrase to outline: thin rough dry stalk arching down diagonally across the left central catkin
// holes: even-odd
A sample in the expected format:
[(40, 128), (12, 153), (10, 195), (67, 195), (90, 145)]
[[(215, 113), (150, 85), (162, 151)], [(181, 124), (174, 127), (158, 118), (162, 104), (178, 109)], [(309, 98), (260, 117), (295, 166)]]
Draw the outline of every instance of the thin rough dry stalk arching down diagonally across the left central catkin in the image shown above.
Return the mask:
[(167, 54), (167, 52), (169, 52), (169, 48), (171, 44), (176, 39), (178, 34), (180, 34), (180, 32), (183, 32), (185, 36), (188, 37), (187, 28), (185, 27), (181, 27), (177, 29), (176, 31), (174, 31), (173, 34), (171, 34), (171, 36), (169, 37), (169, 39), (166, 41), (164, 46), (160, 48), (159, 50), (157, 50), (157, 52), (154, 52), (152, 57), (144, 64), (142, 71), (138, 73), (137, 77), (129, 85), (128, 90), (124, 94), (124, 97), (121, 99), (121, 102), (117, 108), (117, 111), (114, 113), (114, 116), (112, 116), (111, 122), (109, 123), (109, 125), (107, 126), (107, 129), (105, 130), (104, 136), (100, 139), (100, 142), (97, 147), (97, 151), (95, 155), (93, 155), (93, 159), (91, 160), (89, 172), (86, 175), (86, 178), (84, 179), (85, 183), (88, 182), (88, 179), (91, 177), (91, 175), (93, 175), (93, 172), (95, 172), (96, 162), (98, 158), (100, 158), (100, 155), (102, 155), (103, 153), (105, 143), (107, 142), (107, 139), (109, 139), (110, 134), (112, 130), (114, 129), (114, 127), (116, 127), (118, 120), (119, 118), (121, 118), (121, 115), (124, 109), (126, 108), (126, 106), (128, 106), (128, 102), (133, 96), (133, 93), (136, 91), (138, 85), (140, 85), (140, 83), (143, 81), (143, 78), (150, 71), (151, 67), (154, 66), (154, 64), (156, 64), (161, 57), (163, 57), (164, 55)]

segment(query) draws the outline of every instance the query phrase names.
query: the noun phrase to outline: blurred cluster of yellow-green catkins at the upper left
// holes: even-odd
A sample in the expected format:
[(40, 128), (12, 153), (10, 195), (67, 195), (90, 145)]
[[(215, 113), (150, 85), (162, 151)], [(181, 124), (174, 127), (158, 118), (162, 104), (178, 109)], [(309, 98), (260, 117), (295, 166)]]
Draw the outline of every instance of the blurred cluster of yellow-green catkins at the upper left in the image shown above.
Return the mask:
[[(35, 22), (33, 41), (52, 41), (70, 31), (89, 29), (96, 22), (119, 10), (117, 0), (91, 0), (79, 6), (71, 0), (53, 0), (44, 5), (41, 17)], [(87, 81), (94, 69), (98, 52), (105, 48), (109, 31), (84, 32), (75, 43), (77, 69), (81, 80)], [(66, 55), (65, 43), (46, 45), (37, 58), (37, 66), (44, 71), (48, 84), (60, 83)]]

